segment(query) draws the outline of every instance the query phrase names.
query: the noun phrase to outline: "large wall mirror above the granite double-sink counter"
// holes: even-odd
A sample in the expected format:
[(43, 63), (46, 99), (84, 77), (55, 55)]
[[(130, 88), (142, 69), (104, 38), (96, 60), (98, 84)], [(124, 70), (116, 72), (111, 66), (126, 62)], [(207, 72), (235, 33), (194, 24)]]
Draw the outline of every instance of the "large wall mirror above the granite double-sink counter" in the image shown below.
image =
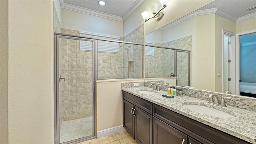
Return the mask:
[[(235, 76), (232, 70), (240, 68), (240, 66), (235, 63), (237, 57), (235, 57), (234, 50), (238, 45), (240, 49), (241, 45), (239, 36), (236, 37), (241, 32), (256, 30), (256, 8), (245, 10), (252, 6), (256, 6), (256, 1), (216, 0), (154, 32), (146, 34), (145, 80), (167, 82), (170, 85), (191, 86), (214, 92), (230, 90), (235, 94), (234, 85), (236, 81), (240, 80), (240, 74)], [(256, 38), (252, 38), (252, 40), (256, 42)], [(224, 46), (224, 42), (227, 46)], [(228, 50), (224, 50), (226, 47)], [(252, 47), (256, 47), (256, 44)], [(152, 48), (154, 56), (159, 55), (159, 57), (154, 58), (150, 55)], [(190, 52), (190, 56), (185, 53), (176, 55), (179, 55), (180, 60), (183, 60), (184, 68), (182, 70), (185, 72), (186, 68), (189, 76), (184, 74), (178, 78), (179, 70), (175, 67), (174, 62), (175, 52), (169, 48)], [(227, 62), (224, 62), (224, 59), (227, 59)], [(170, 75), (171, 73), (174, 73), (174, 77)], [(230, 80), (231, 76), (233, 79)], [(169, 79), (173, 81), (168, 81)], [(178, 82), (179, 80), (184, 81), (184, 79), (190, 84)], [(240, 95), (240, 91), (236, 94)]]

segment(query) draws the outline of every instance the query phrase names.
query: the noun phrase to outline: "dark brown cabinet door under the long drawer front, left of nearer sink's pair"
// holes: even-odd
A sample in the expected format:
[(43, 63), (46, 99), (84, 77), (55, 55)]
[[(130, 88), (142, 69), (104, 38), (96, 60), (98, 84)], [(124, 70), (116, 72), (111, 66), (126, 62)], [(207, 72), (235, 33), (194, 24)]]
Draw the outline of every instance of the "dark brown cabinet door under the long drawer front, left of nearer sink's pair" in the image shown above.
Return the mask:
[(187, 135), (153, 117), (154, 144), (187, 144)]

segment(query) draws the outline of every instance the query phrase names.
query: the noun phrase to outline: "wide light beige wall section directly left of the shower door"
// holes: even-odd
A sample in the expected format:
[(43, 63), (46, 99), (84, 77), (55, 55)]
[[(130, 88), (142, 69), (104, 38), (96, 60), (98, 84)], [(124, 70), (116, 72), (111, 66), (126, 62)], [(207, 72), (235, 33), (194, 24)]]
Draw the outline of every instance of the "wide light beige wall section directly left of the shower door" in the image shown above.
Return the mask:
[(53, 2), (9, 1), (10, 144), (54, 143)]

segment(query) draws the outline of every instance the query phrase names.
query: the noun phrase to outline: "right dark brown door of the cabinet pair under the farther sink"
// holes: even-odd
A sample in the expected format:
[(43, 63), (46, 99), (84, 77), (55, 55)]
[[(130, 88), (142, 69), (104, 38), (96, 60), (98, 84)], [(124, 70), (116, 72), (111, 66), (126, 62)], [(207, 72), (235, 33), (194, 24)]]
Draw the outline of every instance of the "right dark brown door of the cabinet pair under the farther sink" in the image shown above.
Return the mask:
[(135, 140), (139, 144), (152, 144), (152, 115), (135, 106)]

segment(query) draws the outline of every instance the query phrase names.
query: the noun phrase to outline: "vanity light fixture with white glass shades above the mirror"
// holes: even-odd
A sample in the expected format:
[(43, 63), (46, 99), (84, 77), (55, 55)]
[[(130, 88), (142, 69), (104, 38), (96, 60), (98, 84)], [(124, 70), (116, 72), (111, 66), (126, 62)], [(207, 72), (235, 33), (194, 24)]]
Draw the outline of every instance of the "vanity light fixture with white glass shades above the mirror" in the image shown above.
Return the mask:
[[(150, 20), (151, 18), (155, 18), (155, 20), (160, 20), (163, 16), (164, 16), (164, 12), (161, 12), (164, 8), (166, 8), (169, 0), (159, 0), (161, 5), (163, 6), (163, 8), (161, 8), (158, 11), (158, 4), (154, 3), (154, 4), (150, 4), (149, 5), (149, 10), (150, 11), (144, 11), (141, 13), (143, 19), (146, 21)], [(152, 16), (150, 18), (150, 15), (153, 14), (154, 16)]]

